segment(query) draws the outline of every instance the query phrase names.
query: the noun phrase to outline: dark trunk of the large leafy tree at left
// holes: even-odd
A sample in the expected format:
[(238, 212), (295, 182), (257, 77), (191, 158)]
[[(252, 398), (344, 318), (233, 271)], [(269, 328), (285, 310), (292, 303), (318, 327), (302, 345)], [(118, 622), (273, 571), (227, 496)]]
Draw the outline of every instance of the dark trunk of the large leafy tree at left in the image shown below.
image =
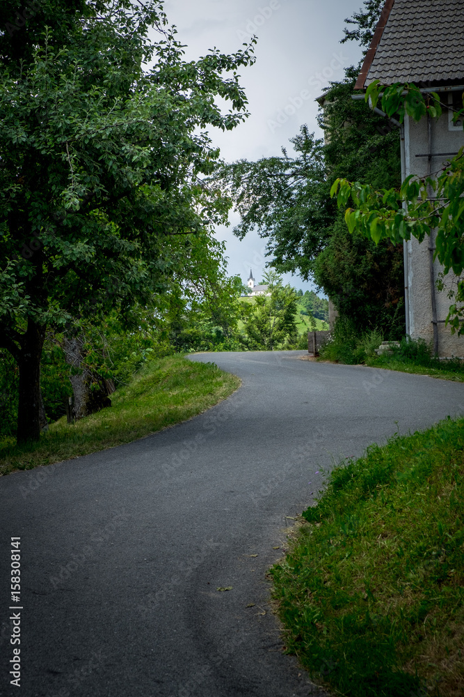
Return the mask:
[(22, 445), (40, 438), (40, 358), (45, 341), (46, 325), (31, 318), (22, 336), (19, 365), (19, 404), (17, 413), (17, 443)]

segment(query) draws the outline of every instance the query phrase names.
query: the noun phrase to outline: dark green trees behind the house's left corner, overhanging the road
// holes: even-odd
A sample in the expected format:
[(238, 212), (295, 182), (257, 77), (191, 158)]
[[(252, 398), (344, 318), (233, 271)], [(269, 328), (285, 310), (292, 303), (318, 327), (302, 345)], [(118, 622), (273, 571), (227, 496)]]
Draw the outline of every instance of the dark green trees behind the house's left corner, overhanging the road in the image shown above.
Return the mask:
[[(346, 29), (343, 41), (368, 45), (382, 5), (367, 0), (364, 10), (346, 20), (355, 29)], [(243, 238), (257, 229), (268, 240), (269, 266), (312, 277), (357, 330), (377, 326), (397, 338), (404, 328), (402, 247), (386, 241), (376, 247), (350, 235), (330, 200), (330, 186), (339, 177), (376, 181), (378, 187), (401, 181), (398, 130), (351, 99), (358, 72), (351, 66), (342, 82), (328, 86), (319, 114), (325, 144), (303, 125), (291, 139), (293, 157), (284, 148), (281, 157), (222, 165), (216, 181), (241, 215), (234, 233)]]

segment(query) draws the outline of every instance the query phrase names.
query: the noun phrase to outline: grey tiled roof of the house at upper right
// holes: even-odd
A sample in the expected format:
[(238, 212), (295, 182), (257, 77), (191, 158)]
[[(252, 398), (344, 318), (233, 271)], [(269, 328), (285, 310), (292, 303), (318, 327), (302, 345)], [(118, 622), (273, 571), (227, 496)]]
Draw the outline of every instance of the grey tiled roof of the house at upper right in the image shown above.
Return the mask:
[(367, 77), (361, 72), (357, 89), (374, 79), (463, 84), (464, 0), (394, 0), (380, 42), (371, 48), (370, 66), (365, 63), (362, 71), (368, 68)]

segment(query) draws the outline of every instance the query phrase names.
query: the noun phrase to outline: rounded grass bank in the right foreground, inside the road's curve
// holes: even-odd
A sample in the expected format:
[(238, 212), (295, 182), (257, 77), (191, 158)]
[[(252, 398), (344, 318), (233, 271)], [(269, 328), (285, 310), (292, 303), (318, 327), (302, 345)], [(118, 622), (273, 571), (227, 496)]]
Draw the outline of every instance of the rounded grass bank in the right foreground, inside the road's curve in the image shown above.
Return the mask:
[(464, 420), (350, 460), (271, 569), (287, 651), (349, 697), (462, 697)]

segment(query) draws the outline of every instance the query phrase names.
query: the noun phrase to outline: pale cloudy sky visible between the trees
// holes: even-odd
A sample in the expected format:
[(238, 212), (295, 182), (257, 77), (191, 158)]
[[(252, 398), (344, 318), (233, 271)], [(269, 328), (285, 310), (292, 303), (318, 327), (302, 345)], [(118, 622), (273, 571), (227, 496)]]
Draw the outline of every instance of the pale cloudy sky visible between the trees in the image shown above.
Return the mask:
[[(166, 0), (165, 10), (186, 44), (186, 59), (217, 47), (234, 52), (255, 33), (257, 61), (241, 70), (250, 117), (232, 132), (213, 129), (210, 135), (221, 155), (232, 162), (279, 155), (301, 124), (318, 132), (314, 100), (330, 79), (341, 79), (344, 67), (358, 63), (361, 50), (353, 42), (340, 44), (344, 19), (360, 9), (362, 0)], [(230, 275), (243, 281), (250, 267), (257, 282), (266, 264), (265, 242), (257, 234), (243, 241), (230, 227), (217, 236), (226, 242)], [(296, 288), (312, 287), (297, 276), (285, 276)]]

